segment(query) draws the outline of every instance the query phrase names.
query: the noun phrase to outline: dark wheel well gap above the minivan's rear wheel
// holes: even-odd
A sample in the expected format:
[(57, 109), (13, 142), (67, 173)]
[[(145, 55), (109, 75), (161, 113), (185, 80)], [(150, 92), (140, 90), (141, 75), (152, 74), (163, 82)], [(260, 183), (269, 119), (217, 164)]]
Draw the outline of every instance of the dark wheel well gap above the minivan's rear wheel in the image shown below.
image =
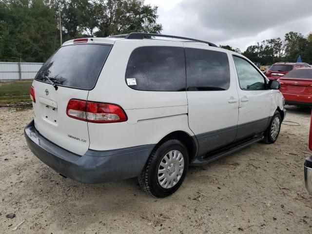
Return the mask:
[(197, 151), (197, 144), (195, 143), (195, 139), (188, 135), (186, 132), (183, 131), (176, 131), (168, 134), (167, 136), (163, 137), (155, 146), (158, 147), (161, 145), (163, 142), (169, 140), (169, 139), (178, 139), (182, 141), (182, 143), (186, 146), (188, 153), (189, 153), (189, 158), (193, 159), (196, 151)]

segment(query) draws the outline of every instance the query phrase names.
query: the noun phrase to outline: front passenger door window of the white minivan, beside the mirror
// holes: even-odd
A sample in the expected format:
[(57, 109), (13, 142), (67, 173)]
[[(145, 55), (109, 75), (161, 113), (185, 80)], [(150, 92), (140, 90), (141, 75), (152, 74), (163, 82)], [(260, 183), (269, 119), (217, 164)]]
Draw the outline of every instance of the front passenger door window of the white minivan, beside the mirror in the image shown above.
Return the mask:
[(239, 86), (242, 90), (266, 89), (264, 77), (247, 60), (233, 56)]

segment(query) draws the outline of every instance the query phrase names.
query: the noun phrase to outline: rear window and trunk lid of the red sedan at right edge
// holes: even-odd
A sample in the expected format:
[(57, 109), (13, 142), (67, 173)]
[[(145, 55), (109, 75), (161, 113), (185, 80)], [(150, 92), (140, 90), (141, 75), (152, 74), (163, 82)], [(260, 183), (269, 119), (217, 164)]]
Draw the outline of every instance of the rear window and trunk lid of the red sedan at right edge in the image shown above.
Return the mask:
[(312, 69), (292, 70), (278, 81), (283, 93), (312, 94)]

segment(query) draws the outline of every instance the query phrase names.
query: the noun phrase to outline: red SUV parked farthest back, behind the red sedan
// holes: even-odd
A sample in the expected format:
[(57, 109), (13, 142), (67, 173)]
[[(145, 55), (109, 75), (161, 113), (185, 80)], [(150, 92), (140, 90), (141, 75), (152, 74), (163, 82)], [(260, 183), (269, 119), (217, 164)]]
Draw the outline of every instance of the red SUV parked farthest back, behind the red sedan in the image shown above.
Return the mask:
[(310, 65), (305, 62), (276, 62), (270, 67), (265, 75), (269, 79), (278, 79), (286, 75), (293, 69), (298, 69), (302, 67), (310, 67)]

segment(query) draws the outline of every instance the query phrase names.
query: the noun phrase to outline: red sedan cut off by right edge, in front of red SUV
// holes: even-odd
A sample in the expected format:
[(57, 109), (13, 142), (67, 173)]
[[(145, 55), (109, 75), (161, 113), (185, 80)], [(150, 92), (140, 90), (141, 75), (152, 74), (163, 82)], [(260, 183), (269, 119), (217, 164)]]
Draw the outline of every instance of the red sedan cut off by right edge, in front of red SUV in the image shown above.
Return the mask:
[(292, 70), (277, 81), (285, 104), (312, 107), (312, 68)]

